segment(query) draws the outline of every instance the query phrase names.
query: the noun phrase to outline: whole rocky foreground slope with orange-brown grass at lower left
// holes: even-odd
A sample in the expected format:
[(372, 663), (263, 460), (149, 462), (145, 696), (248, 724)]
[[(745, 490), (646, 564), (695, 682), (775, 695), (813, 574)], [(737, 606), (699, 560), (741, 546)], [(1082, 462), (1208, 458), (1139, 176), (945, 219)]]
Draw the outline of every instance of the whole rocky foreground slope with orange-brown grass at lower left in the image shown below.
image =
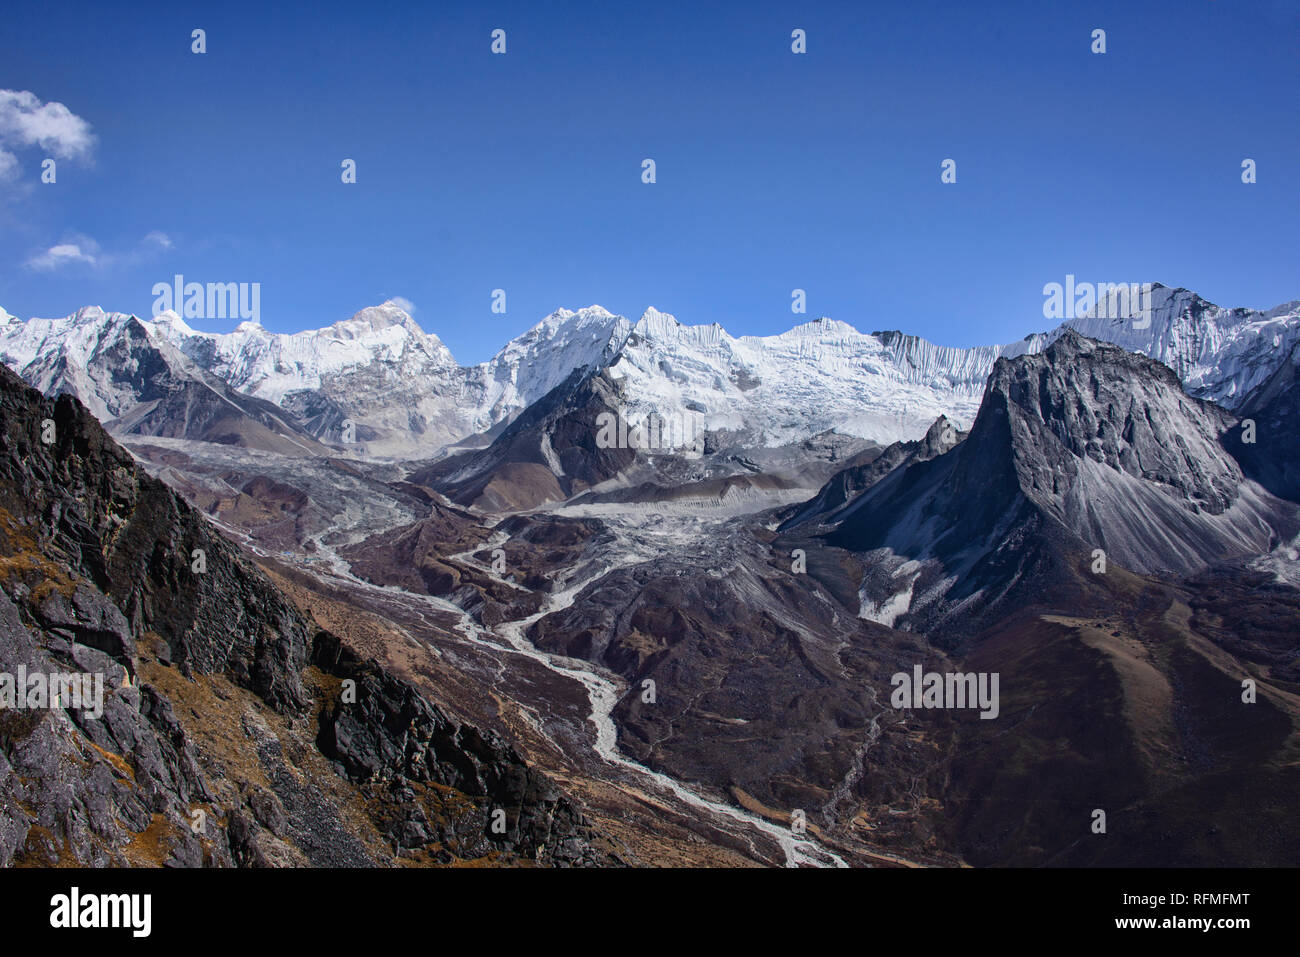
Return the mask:
[(0, 670), (104, 689), (101, 715), (0, 710), (0, 863), (608, 859), (512, 749), (316, 629), (70, 397), (0, 371)]

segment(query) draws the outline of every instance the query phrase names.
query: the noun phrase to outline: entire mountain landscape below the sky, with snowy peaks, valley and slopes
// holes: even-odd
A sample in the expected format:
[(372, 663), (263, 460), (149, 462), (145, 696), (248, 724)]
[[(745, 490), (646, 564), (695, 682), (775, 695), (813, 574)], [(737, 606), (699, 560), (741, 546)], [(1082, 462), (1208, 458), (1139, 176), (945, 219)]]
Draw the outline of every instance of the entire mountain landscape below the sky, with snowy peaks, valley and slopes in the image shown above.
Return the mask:
[(1300, 302), (1108, 316), (0, 309), (0, 865), (1300, 865)]

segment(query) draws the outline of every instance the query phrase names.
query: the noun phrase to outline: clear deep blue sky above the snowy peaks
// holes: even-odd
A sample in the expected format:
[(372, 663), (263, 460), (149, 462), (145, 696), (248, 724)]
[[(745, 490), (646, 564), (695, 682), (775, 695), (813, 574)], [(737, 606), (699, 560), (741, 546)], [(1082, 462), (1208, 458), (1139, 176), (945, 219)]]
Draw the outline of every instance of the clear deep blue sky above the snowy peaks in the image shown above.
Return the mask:
[(403, 296), (468, 363), (590, 303), (967, 346), (1052, 325), (1067, 273), (1300, 298), (1296, 0), (177, 7), (0, 26), (0, 90), (94, 135), (44, 185), (0, 112), (9, 312), (148, 315), (174, 273), (260, 282), (282, 332)]

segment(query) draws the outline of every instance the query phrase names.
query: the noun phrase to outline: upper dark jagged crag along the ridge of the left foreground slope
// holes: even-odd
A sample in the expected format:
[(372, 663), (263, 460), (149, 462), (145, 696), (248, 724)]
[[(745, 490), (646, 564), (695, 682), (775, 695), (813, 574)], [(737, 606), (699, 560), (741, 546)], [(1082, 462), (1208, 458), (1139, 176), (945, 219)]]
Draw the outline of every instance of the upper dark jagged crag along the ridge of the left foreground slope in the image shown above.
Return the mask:
[(166, 661), (300, 706), (308, 632), (298, 611), (72, 397), (39, 399), (3, 378), (0, 507), (36, 550), (110, 597), (133, 633), (159, 636)]

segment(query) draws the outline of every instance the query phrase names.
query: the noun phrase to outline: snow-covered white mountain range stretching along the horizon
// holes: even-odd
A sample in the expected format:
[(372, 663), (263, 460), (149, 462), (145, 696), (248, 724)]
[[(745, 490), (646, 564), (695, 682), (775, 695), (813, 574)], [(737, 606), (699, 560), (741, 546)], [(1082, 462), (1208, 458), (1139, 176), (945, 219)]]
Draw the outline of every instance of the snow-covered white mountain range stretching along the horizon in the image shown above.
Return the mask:
[[(302, 454), (324, 443), (370, 459), (432, 458), (493, 434), (577, 369), (607, 371), (633, 421), (689, 420), (682, 445), (708, 434), (770, 447), (827, 430), (888, 445), (919, 438), (939, 415), (968, 426), (996, 360), (1040, 352), (1067, 328), (1157, 359), (1190, 394), (1232, 410), (1295, 348), (1300, 303), (1225, 309), (1157, 283), (1149, 325), (1138, 325), (1098, 307), (1019, 342), (954, 348), (829, 319), (736, 338), (653, 308), (630, 321), (593, 306), (556, 311), (464, 367), (391, 302), (294, 334), (254, 322), (202, 333), (170, 312), (87, 307), (57, 320), (0, 312), (0, 360), (43, 391), (75, 395), (114, 433)], [(159, 410), (162, 394), (170, 408)]]

